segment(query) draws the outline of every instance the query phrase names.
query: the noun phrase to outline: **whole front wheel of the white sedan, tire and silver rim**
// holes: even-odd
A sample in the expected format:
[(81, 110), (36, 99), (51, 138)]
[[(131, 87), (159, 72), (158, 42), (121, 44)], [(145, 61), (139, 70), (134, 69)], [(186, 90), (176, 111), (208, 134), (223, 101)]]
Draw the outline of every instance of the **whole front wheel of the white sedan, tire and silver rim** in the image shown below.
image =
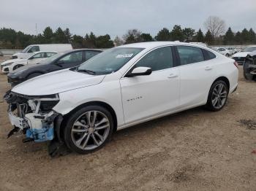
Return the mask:
[(103, 147), (113, 133), (113, 117), (102, 106), (86, 106), (71, 114), (64, 127), (67, 147), (80, 154)]

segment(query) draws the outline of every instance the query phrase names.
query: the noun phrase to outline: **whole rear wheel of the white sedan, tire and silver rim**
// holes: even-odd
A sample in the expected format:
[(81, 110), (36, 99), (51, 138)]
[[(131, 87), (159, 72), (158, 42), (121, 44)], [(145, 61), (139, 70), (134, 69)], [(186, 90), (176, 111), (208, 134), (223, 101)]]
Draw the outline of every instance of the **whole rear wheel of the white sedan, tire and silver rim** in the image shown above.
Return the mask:
[(228, 88), (226, 82), (218, 80), (211, 85), (210, 92), (208, 94), (208, 100), (206, 108), (217, 112), (225, 106), (227, 102)]

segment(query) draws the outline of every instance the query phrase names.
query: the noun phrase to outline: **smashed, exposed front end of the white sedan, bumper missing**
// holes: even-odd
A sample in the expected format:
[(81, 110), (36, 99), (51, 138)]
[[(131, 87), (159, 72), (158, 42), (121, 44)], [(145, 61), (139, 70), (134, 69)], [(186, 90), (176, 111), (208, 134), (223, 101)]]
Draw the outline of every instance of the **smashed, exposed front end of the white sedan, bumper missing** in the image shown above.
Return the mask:
[(61, 114), (53, 111), (53, 107), (59, 102), (58, 94), (31, 96), (8, 91), (4, 95), (4, 100), (9, 104), (9, 119), (15, 127), (8, 137), (12, 136), (15, 131), (22, 131), (26, 134), (23, 142), (42, 142), (54, 139), (56, 134), (54, 128), (61, 122), (57, 119), (62, 119)]

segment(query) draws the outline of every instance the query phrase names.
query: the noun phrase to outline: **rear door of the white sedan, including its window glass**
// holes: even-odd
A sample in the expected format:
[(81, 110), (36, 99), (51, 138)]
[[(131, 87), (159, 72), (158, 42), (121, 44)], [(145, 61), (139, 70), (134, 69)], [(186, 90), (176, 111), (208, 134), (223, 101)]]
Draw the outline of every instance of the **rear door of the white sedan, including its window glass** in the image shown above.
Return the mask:
[(215, 55), (192, 46), (176, 46), (176, 51), (181, 64), (181, 107), (203, 104), (215, 78), (214, 63), (211, 61)]

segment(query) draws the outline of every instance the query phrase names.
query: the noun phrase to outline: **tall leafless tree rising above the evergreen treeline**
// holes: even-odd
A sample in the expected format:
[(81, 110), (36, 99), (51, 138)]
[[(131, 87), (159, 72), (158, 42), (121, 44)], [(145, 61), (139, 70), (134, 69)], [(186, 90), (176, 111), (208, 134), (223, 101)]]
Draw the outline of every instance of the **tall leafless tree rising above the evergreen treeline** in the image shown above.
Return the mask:
[(206, 27), (206, 30), (209, 30), (211, 35), (214, 36), (214, 39), (225, 33), (225, 21), (219, 17), (210, 16), (203, 24)]

